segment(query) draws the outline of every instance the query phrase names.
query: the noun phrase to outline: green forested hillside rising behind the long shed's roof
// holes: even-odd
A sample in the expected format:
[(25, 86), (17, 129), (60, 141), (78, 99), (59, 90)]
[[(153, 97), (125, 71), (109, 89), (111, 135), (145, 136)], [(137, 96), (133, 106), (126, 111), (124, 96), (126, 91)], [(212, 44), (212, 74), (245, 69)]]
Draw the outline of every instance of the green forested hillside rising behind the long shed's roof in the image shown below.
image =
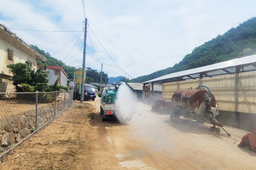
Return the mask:
[(253, 54), (256, 54), (256, 17), (194, 48), (192, 53), (187, 54), (173, 67), (137, 77), (132, 79), (131, 82), (144, 82), (169, 73), (207, 66)]

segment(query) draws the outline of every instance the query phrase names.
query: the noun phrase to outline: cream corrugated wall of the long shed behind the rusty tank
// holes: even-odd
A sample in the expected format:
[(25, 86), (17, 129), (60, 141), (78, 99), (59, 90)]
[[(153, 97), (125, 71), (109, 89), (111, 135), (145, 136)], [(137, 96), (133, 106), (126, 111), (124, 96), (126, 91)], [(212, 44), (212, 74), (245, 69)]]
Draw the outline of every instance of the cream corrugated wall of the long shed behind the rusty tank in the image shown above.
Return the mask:
[[(170, 99), (178, 89), (195, 89), (199, 84), (208, 86), (219, 103), (219, 110), (256, 113), (256, 71), (238, 75), (237, 101), (235, 101), (235, 74), (218, 77), (163, 83), (162, 97)], [(236, 111), (237, 104), (237, 111)]]

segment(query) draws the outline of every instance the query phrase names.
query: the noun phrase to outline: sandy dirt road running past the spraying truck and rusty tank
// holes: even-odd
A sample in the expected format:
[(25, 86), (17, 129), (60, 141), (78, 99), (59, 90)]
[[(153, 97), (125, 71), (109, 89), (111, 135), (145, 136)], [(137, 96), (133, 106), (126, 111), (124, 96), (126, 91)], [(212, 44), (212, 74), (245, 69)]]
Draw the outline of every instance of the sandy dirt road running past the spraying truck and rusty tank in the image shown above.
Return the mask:
[[(75, 102), (42, 131), (14, 149), (2, 169), (256, 169), (256, 152), (238, 148), (246, 131), (231, 137), (208, 124), (183, 120), (138, 104), (132, 121), (102, 122), (99, 98)], [(25, 154), (25, 155), (24, 155)]]

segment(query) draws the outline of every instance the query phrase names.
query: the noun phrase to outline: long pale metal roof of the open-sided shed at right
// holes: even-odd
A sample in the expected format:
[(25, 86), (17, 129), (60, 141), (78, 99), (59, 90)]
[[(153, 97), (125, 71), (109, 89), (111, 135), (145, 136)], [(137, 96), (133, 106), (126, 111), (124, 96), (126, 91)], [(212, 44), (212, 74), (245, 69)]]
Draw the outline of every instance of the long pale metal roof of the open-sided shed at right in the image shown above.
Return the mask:
[[(198, 74), (200, 72), (204, 72), (204, 71), (224, 69), (224, 68), (229, 68), (229, 67), (234, 67), (234, 66), (239, 66), (239, 65), (244, 65), (244, 64), (250, 64), (250, 63), (255, 63), (255, 62), (256, 62), (256, 55), (251, 55), (251, 56), (236, 58), (233, 60), (224, 61), (221, 63), (216, 63), (216, 64), (204, 66), (204, 67), (193, 68), (193, 69), (189, 69), (189, 70), (170, 73), (168, 75), (164, 75), (164, 76), (152, 79), (152, 80), (148, 80), (143, 83), (155, 82), (155, 81), (159, 81), (159, 80), (165, 80), (165, 79), (193, 75), (193, 74), (196, 75), (196, 74)], [(246, 69), (248, 69), (248, 67)], [(229, 70), (229, 69), (227, 69), (227, 70)], [(231, 70), (232, 70), (231, 72), (234, 72), (233, 68)], [(218, 71), (218, 73), (220, 73), (220, 72), (223, 72), (223, 70)]]

